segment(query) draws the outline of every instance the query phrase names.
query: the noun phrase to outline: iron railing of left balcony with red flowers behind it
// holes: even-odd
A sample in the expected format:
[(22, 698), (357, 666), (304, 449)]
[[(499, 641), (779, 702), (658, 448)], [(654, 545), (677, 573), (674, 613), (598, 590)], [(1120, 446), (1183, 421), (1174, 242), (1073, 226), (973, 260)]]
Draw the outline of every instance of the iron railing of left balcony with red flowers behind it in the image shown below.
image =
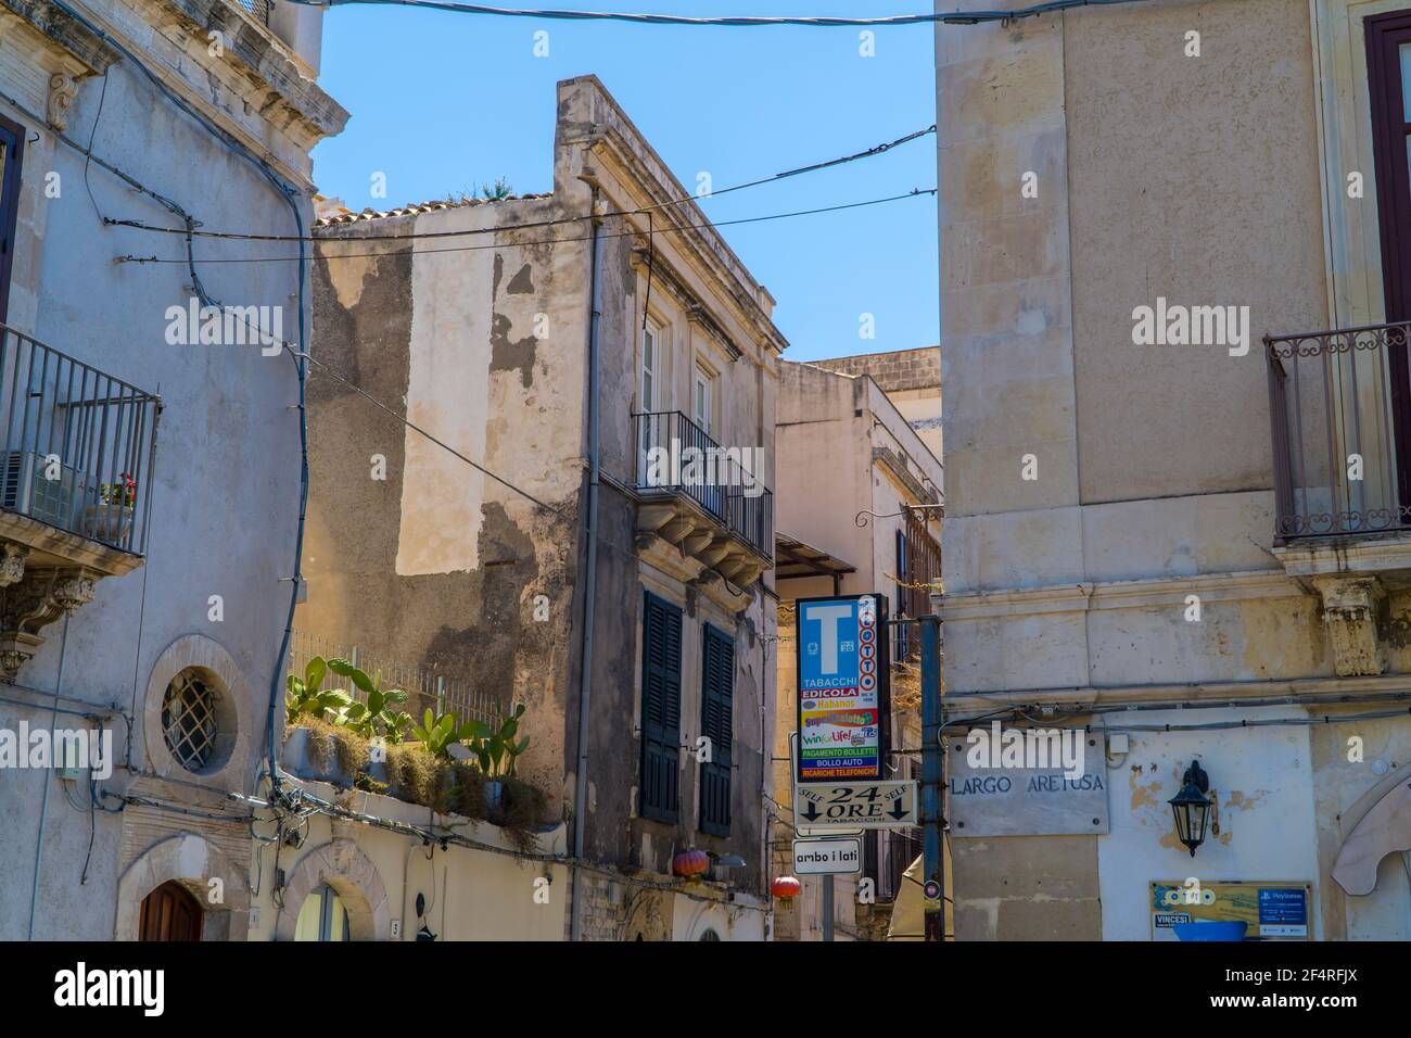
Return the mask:
[(0, 510), (145, 554), (161, 400), (0, 325)]

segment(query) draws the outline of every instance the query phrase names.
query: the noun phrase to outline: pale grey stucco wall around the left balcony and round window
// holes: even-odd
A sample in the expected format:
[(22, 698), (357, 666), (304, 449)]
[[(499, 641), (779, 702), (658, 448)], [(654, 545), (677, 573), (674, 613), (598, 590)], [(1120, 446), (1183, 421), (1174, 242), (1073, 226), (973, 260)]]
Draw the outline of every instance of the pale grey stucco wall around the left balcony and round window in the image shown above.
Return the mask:
[[(282, 117), (272, 100), (264, 112), (243, 105), (241, 92), (253, 97), (257, 78), (234, 72), (238, 55), (229, 55), (207, 72), (205, 41), (199, 54), (183, 52), (143, 21), (151, 14), (147, 6), (141, 11), (109, 3), (86, 7), (97, 18), (121, 7), (121, 21), (109, 27), (111, 34), (148, 59), (179, 64), (182, 75), (172, 75), (168, 82), (179, 88), (182, 76), (199, 80), (199, 93), (189, 82), (185, 88), (192, 103), (212, 112), (210, 102), (217, 99), (230, 124), (254, 133), (265, 147), (286, 158), (295, 168), (284, 172), (308, 191), (298, 171), (308, 168), (303, 150), (316, 136), (305, 134), (315, 134), (313, 127), (271, 126), (267, 119)], [(174, 34), (181, 24), (169, 4), (164, 6), (162, 24)], [(44, 88), (49, 69), (38, 62), (54, 55), (35, 44), (37, 34), (18, 28), (8, 16), (4, 30), (0, 92), (24, 109), (6, 102), (0, 103), (0, 114), (20, 123), (27, 138), (7, 323), (75, 360), (143, 390), (159, 391), (164, 401), (155, 466), (137, 489), (152, 510), (145, 565), (127, 576), (100, 580), (95, 600), (68, 620), (66, 636), (63, 621), (45, 628), (47, 643), (21, 671), (20, 684), (114, 705), (104, 724), (114, 732), (120, 770), (102, 789), (229, 811), (229, 802), (219, 794), (203, 795), (135, 772), (152, 771), (154, 761), (165, 753), (159, 726), (165, 681), (152, 685), (152, 675), (164, 658), (213, 658), (217, 650), (186, 654), (179, 648), (183, 638), (200, 636), (205, 640), (200, 644), (219, 647), (226, 661), (222, 665), (229, 664), (226, 674), (238, 682), (227, 688), (227, 695), (238, 700), (230, 717), (236, 723), (234, 753), (227, 767), (210, 780), (189, 775), (176, 765), (171, 765), (172, 774), (205, 781), (217, 791), (254, 791), (264, 754), (264, 709), (272, 679), (282, 672), (279, 638), (291, 595), (286, 578), (293, 566), (299, 510), (295, 367), (288, 356), (262, 356), (258, 346), (168, 342), (166, 308), (189, 304), (190, 271), (183, 264), (114, 263), (114, 258), (179, 256), (179, 244), (168, 246), (181, 239), (104, 226), (103, 217), (169, 227), (178, 226), (172, 213), (96, 162), (85, 178), (83, 157), (58, 143), (42, 119), (31, 114), (47, 112)], [(68, 136), (86, 143), (93, 133), (96, 157), (174, 199), (209, 229), (296, 233), (282, 193), (255, 167), (159, 96), (127, 59), (107, 69), (103, 117), (95, 131), (103, 86), (97, 76), (76, 83), (76, 96), (66, 112)], [(301, 89), (316, 92), (312, 83)], [(336, 126), (325, 131), (336, 133), (346, 113), (337, 110), (330, 117)], [(54, 186), (56, 193), (47, 192)], [(298, 198), (296, 205), (308, 227), (312, 222), (308, 196)], [(196, 246), (196, 254), (251, 253), (246, 246), (209, 250)], [(199, 273), (210, 295), (226, 305), (282, 308), (284, 338), (295, 339), (299, 323), (295, 264), (205, 264)], [(212, 596), (220, 596), (219, 620), (213, 619)], [(32, 699), (35, 709), (0, 705), (0, 727), (14, 730), (21, 722), (49, 726), (47, 698), (23, 689), (8, 689), (6, 698)], [(152, 723), (154, 700), (157, 723)], [(61, 713), (58, 723), (62, 727), (83, 722)], [(128, 729), (130, 756), (124, 746)], [(49, 784), (48, 808), (41, 821), (45, 784)], [(82, 784), (78, 788), (85, 792)], [(240, 835), (243, 825), (207, 826), (157, 811), (138, 819), (137, 809), (96, 812), (90, 823), (89, 812), (75, 812), (63, 797), (59, 781), (47, 771), (6, 770), (0, 781), (0, 826), (6, 832), (0, 840), (0, 871), (8, 877), (0, 884), (0, 939), (28, 935), (35, 870), (35, 938), (111, 939), (120, 912), (131, 911), (148, 893), (148, 888), (120, 888), (120, 876), (141, 847), (175, 833), (219, 830), (216, 839), (224, 840), (234, 859), (233, 870), (244, 876), (248, 833)], [(106, 801), (106, 806), (111, 808), (113, 801)]]

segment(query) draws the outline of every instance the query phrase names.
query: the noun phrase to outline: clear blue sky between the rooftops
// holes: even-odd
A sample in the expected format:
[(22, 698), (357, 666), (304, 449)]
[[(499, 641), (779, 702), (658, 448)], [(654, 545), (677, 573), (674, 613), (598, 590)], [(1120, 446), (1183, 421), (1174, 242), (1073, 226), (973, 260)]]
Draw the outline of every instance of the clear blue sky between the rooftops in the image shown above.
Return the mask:
[[(555, 3), (546, 6), (570, 6)], [(662, 14), (889, 16), (914, 0), (577, 0), (584, 10)], [(533, 55), (549, 32), (549, 56)], [(516, 192), (552, 188), (555, 83), (595, 73), (656, 151), (693, 188), (851, 154), (935, 121), (933, 31), (879, 28), (875, 56), (858, 28), (690, 28), (539, 21), (408, 7), (325, 14), (320, 85), (353, 117), (313, 153), (325, 195), (387, 209), (505, 177)], [(387, 198), (371, 198), (374, 172)], [(885, 155), (704, 202), (711, 220), (899, 195), (935, 184), (935, 138)], [(938, 342), (935, 199), (724, 227), (779, 301), (790, 360)], [(859, 335), (861, 315), (875, 338)]]

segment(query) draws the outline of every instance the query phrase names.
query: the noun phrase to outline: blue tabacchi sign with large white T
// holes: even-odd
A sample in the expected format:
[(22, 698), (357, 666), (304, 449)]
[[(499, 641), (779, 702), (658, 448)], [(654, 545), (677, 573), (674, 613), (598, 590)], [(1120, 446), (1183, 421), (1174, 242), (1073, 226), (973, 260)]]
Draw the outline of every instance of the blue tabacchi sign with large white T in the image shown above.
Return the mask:
[(882, 777), (886, 599), (799, 599), (800, 782)]

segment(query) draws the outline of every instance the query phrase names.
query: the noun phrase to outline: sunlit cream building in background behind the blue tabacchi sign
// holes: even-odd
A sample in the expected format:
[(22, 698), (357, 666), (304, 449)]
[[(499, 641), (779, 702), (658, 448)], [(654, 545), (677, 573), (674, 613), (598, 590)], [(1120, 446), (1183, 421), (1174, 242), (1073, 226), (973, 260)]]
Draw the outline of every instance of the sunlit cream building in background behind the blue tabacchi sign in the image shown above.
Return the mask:
[[(873, 374), (875, 373), (875, 374)], [(897, 394), (900, 400), (896, 400)], [(919, 412), (930, 401), (934, 414)], [(910, 407), (912, 414), (903, 408)], [(940, 352), (780, 364), (777, 405), (779, 592), (777, 724), (772, 826), (775, 874), (793, 869), (793, 767), (797, 727), (797, 599), (876, 592), (892, 617), (930, 612), (940, 576), (941, 463), (923, 438), (940, 414)], [(920, 425), (920, 428), (917, 428)], [(827, 486), (827, 497), (818, 487)], [(892, 638), (893, 778), (920, 778), (920, 633)], [(775, 908), (776, 941), (823, 936), (823, 884), (834, 884), (834, 939), (886, 935), (902, 873), (920, 853), (919, 830), (866, 833), (859, 876), (799, 877), (801, 893)], [(861, 885), (866, 880), (869, 885)]]

